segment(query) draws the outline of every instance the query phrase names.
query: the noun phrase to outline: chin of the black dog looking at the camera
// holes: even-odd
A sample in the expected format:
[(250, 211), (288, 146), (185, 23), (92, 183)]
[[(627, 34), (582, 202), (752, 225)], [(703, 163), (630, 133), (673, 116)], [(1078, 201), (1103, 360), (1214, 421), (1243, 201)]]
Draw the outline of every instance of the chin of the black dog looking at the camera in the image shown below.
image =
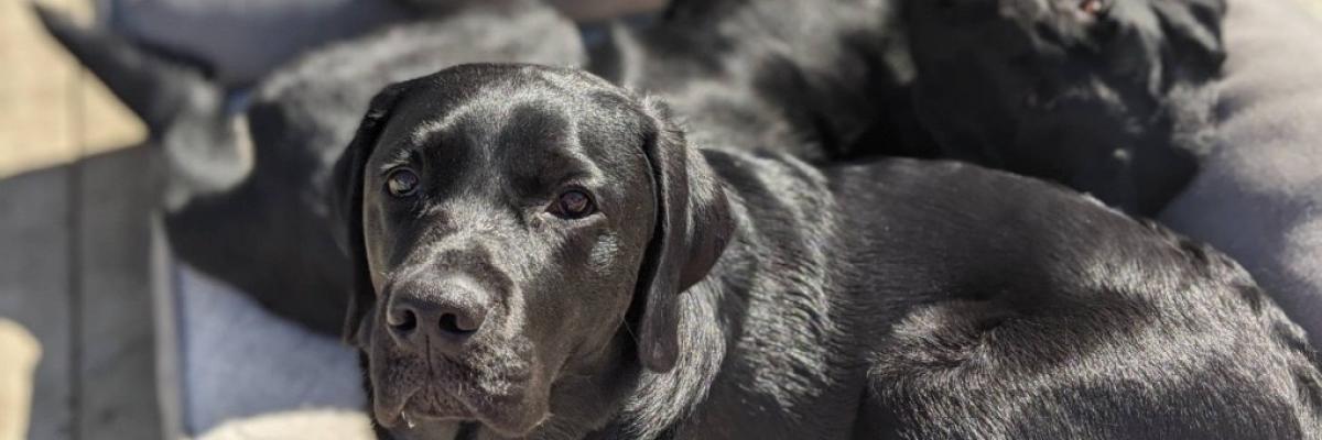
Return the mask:
[(449, 392), (452, 390), (456, 388), (422, 386), (402, 400), (378, 395), (373, 408), (377, 423), (393, 432), (408, 432), (438, 424), (475, 422), (502, 437), (524, 437), (550, 416), (545, 399), (490, 395), (476, 390), (455, 395)]

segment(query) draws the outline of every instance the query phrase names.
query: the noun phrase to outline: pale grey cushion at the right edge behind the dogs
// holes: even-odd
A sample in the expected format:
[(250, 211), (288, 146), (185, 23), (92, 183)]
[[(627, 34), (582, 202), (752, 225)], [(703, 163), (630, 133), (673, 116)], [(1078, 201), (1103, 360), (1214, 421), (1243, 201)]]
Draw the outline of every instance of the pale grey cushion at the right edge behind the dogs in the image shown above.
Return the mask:
[(1322, 22), (1294, 0), (1231, 0), (1224, 145), (1162, 214), (1229, 254), (1322, 346)]

